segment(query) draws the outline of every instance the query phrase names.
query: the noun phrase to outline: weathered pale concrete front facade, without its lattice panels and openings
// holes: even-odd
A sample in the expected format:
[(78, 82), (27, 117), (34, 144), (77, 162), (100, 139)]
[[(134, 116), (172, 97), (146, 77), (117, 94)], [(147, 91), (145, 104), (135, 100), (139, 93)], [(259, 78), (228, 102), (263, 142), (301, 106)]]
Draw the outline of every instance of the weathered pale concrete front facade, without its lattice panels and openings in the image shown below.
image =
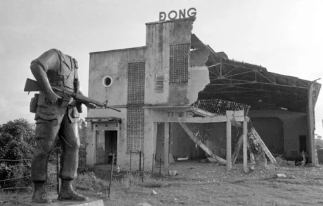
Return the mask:
[[(104, 102), (109, 100), (108, 106), (121, 108), (118, 113), (109, 109), (89, 109), (88, 117), (120, 117), (120, 133), (118, 135), (118, 162), (122, 169), (129, 169), (129, 153), (126, 153), (126, 108), (128, 90), (128, 64), (129, 62), (146, 62), (145, 72), (145, 105), (188, 105), (197, 100), (197, 93), (210, 82), (207, 67), (190, 67), (189, 80), (185, 83), (170, 84), (170, 45), (190, 44), (193, 19), (166, 21), (163, 23), (146, 24), (146, 46), (131, 49), (119, 49), (107, 52), (94, 52), (90, 54), (89, 65), (89, 98)], [(155, 76), (164, 73), (164, 93), (155, 92)], [(104, 87), (102, 80), (111, 76), (113, 83)], [(145, 109), (144, 120), (144, 152), (145, 165), (151, 167), (152, 155), (156, 152), (157, 124), (153, 123), (154, 115), (164, 115)], [(104, 124), (104, 123), (102, 123)], [(95, 128), (89, 124), (87, 139), (87, 163), (90, 166), (96, 163)], [(186, 136), (185, 133), (183, 136)], [(175, 144), (183, 139), (190, 139), (175, 135)], [(178, 137), (178, 139), (177, 139)], [(185, 144), (177, 144), (186, 147)], [(192, 145), (188, 148), (192, 149)], [(175, 150), (176, 152), (180, 151)], [(184, 149), (183, 149), (184, 150)], [(188, 149), (185, 149), (185, 151)], [(184, 152), (186, 153), (186, 152)], [(189, 153), (189, 152), (188, 152)], [(192, 152), (190, 152), (192, 153)], [(180, 156), (180, 154), (176, 155)], [(196, 154), (190, 154), (196, 156)], [(162, 155), (164, 158), (164, 155)], [(133, 155), (132, 163), (138, 165), (139, 159)], [(133, 168), (135, 169), (135, 168)]]

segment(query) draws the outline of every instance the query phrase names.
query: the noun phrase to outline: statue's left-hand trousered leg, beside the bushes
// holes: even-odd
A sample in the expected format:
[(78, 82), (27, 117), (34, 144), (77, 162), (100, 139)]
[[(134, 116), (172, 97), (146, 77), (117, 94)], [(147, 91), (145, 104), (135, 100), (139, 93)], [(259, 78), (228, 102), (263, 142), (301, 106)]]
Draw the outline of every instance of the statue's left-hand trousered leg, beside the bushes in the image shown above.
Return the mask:
[(32, 159), (32, 181), (34, 182), (34, 195), (32, 200), (37, 203), (50, 202), (47, 199), (45, 191), (45, 182), (47, 181), (47, 164), (50, 152), (55, 144), (60, 122), (62, 118), (54, 120), (45, 120), (36, 123), (35, 139), (36, 153)]

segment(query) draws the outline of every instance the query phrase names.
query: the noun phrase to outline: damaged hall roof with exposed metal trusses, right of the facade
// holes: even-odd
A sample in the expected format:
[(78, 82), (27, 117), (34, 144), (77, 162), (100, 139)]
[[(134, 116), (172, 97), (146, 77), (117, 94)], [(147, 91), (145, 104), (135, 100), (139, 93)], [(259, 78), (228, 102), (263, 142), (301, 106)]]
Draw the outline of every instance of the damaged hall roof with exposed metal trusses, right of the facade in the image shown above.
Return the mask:
[(195, 34), (191, 36), (190, 66), (205, 65), (210, 84), (199, 92), (199, 100), (216, 98), (250, 105), (252, 109), (285, 109), (307, 112), (309, 89), (313, 84), (315, 106), (321, 84), (267, 71), (229, 59), (224, 52), (214, 52)]

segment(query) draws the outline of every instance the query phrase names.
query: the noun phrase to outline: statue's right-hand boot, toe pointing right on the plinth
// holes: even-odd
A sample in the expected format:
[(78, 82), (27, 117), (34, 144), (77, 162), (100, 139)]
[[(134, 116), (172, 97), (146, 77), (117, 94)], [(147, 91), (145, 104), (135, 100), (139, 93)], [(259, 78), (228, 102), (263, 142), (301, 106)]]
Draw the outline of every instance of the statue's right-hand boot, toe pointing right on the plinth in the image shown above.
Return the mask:
[(62, 187), (60, 187), (58, 200), (59, 201), (88, 201), (89, 198), (75, 192), (75, 190), (71, 185), (71, 181), (62, 179)]

